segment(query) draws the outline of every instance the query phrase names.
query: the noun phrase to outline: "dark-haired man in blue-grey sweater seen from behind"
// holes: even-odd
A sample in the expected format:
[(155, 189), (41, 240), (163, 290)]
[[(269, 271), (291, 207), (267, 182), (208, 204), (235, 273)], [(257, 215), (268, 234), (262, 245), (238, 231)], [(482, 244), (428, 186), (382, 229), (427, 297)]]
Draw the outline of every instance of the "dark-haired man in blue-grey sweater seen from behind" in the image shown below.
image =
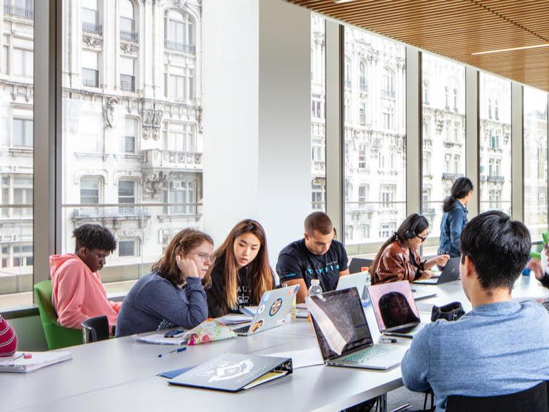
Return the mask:
[(450, 395), (506, 395), (549, 380), (549, 313), (536, 302), (511, 301), (528, 262), (528, 229), (488, 211), (465, 226), (460, 245), (461, 284), (473, 310), (426, 325), (401, 363), (404, 385), (432, 388), (437, 412)]

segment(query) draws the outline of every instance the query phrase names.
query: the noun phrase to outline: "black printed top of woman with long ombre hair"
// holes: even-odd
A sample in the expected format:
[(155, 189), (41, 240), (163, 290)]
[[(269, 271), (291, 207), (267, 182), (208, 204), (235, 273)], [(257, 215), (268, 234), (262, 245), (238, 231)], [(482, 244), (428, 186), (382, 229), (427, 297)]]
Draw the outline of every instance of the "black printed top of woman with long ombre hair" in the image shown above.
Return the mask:
[[(237, 301), (238, 307), (235, 309), (227, 308), (225, 302), (225, 260), (218, 259), (211, 271), (211, 288), (206, 290), (208, 300), (209, 317), (220, 317), (227, 313), (239, 313), (242, 306), (255, 306), (259, 302), (252, 297), (252, 271), (251, 264), (248, 264), (238, 271), (237, 283)], [(272, 288), (274, 288), (274, 277), (272, 279)]]

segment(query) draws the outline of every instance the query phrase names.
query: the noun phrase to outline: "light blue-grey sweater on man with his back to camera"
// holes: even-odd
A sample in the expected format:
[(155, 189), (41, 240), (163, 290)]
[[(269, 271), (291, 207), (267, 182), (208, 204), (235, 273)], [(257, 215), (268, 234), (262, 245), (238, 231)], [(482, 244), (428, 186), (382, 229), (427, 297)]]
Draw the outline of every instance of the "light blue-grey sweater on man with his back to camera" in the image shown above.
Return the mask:
[(436, 411), (447, 397), (498, 396), (549, 380), (549, 314), (535, 302), (482, 305), (458, 321), (425, 325), (401, 363), (412, 391), (432, 387)]

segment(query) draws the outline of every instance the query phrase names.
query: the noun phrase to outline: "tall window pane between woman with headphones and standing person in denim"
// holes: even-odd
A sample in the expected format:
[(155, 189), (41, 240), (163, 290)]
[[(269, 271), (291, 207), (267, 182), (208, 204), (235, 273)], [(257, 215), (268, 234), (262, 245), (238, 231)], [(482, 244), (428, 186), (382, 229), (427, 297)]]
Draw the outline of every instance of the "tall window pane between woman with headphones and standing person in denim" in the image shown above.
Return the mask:
[(423, 253), (436, 253), (444, 198), (465, 175), (465, 67), (422, 53), (421, 69), (421, 211), (431, 224)]

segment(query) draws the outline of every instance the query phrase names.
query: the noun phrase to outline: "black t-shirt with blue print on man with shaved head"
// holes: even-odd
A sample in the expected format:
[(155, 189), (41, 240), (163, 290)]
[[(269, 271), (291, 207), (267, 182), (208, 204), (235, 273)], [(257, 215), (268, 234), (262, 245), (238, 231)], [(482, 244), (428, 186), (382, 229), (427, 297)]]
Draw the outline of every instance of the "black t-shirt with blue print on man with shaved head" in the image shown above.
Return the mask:
[(323, 292), (335, 290), (339, 273), (347, 271), (347, 251), (341, 242), (334, 240), (324, 255), (315, 255), (305, 246), (305, 239), (296, 240), (282, 249), (277, 262), (280, 283), (303, 279), (307, 289), (311, 279), (320, 279)]

